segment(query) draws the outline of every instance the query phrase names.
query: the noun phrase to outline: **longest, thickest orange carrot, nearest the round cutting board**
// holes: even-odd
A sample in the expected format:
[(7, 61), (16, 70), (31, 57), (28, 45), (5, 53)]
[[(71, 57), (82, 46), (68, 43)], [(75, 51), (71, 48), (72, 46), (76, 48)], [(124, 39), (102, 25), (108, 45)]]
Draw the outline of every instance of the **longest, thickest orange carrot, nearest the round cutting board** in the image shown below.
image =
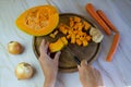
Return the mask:
[(106, 32), (107, 35), (110, 35), (111, 32), (109, 27), (105, 24), (105, 22), (98, 16), (98, 14), (95, 11), (95, 8), (92, 3), (87, 3), (85, 7), (86, 11), (90, 13), (92, 17), (96, 20), (96, 22), (103, 27), (103, 29)]

